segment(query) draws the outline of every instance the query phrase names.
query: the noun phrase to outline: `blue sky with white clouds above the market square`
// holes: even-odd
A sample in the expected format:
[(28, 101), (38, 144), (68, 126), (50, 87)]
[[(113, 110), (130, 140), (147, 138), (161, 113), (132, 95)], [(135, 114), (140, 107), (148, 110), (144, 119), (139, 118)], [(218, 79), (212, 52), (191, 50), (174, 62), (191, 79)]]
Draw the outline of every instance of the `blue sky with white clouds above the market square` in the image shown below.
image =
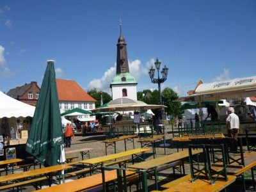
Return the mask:
[(254, 0), (1, 0), (0, 90), (40, 86), (54, 60), (57, 78), (111, 93), (120, 17), (138, 91), (157, 89), (148, 76), (156, 58), (169, 68), (162, 90), (179, 96), (200, 79), (256, 76)]

